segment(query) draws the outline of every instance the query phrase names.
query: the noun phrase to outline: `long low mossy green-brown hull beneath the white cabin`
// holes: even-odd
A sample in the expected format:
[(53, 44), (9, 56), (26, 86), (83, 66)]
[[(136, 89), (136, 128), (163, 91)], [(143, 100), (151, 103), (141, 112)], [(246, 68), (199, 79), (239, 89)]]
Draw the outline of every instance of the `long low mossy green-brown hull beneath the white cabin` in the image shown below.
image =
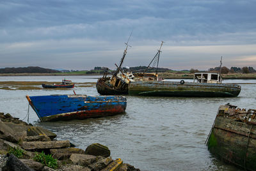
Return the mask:
[(182, 97), (236, 97), (241, 86), (197, 82), (138, 81), (128, 86), (129, 95)]

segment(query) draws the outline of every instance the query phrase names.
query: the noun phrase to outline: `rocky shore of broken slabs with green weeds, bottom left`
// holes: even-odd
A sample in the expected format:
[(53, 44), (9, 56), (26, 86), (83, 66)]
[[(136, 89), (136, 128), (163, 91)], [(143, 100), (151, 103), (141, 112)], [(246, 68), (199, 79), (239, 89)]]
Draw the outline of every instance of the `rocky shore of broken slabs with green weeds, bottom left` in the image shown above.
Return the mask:
[(120, 170), (137, 171), (112, 159), (108, 147), (91, 144), (85, 150), (44, 128), (0, 113), (0, 171), (3, 170)]

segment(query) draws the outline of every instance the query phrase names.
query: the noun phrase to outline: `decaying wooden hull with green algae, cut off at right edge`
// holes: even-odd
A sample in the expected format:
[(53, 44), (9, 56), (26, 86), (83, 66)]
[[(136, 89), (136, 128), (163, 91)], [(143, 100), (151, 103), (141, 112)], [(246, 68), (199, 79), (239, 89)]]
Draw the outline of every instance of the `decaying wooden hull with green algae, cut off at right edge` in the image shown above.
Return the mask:
[(256, 170), (256, 110), (221, 105), (206, 142), (217, 158)]

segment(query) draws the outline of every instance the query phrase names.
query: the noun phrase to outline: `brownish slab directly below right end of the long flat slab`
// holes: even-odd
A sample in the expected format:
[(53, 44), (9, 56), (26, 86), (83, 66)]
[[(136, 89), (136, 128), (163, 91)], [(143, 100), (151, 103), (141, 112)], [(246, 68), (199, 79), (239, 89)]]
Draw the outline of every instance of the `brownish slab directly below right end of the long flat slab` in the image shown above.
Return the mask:
[(58, 160), (68, 159), (71, 154), (84, 154), (83, 149), (77, 149), (74, 147), (67, 149), (50, 149), (52, 157), (57, 158)]

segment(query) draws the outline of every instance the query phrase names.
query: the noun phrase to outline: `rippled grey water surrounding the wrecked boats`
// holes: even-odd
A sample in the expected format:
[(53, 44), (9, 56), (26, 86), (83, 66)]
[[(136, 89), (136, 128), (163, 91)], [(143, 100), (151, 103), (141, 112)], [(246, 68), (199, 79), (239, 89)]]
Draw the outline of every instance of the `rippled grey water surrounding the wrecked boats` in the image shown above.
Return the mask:
[[(60, 81), (63, 77), (0, 77), (0, 81)], [(97, 76), (65, 77), (73, 82), (97, 82)], [(189, 81), (189, 80), (185, 80)], [(256, 82), (227, 80), (225, 82)], [(39, 123), (29, 108), (29, 123), (47, 128), (58, 140), (81, 149), (92, 143), (107, 145), (112, 158), (122, 158), (141, 170), (237, 170), (215, 159), (204, 144), (220, 105), (256, 108), (256, 85), (241, 84), (237, 98), (161, 98), (127, 96), (126, 113), (82, 121)], [(75, 87), (76, 94), (99, 95), (96, 87)], [(73, 94), (71, 90), (6, 91), (0, 89), (0, 112), (23, 119), (29, 96)], [(27, 119), (25, 119), (27, 121)]]

